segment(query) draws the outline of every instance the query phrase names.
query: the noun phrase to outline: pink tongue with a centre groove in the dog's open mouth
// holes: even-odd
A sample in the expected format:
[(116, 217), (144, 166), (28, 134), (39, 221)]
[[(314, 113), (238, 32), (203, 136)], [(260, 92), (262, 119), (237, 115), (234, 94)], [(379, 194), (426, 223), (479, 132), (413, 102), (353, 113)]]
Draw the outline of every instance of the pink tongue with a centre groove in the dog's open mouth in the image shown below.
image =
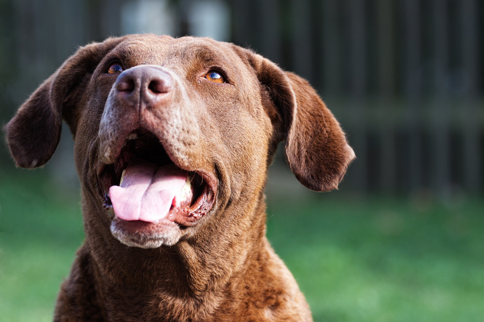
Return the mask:
[(174, 164), (159, 167), (143, 159), (132, 160), (121, 186), (109, 188), (114, 213), (123, 220), (156, 222), (180, 206), (180, 194), (188, 173)]

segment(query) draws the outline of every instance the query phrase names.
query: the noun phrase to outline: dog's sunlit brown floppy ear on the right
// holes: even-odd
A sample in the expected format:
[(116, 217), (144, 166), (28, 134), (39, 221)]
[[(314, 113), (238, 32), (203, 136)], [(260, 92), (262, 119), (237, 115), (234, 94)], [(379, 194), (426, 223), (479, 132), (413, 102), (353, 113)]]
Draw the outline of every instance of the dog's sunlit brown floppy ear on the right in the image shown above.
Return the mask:
[(313, 87), (270, 60), (244, 49), (279, 117), (284, 153), (296, 178), (315, 191), (336, 189), (355, 158), (345, 133)]

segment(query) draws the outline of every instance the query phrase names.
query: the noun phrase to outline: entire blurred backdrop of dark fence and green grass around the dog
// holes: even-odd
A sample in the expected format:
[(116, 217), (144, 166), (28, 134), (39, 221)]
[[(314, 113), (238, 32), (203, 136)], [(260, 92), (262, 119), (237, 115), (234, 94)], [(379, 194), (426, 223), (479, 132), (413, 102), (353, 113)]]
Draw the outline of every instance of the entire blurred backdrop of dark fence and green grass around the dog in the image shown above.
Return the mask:
[[(358, 157), (325, 194), (282, 151), (270, 171), (268, 238), (315, 321), (483, 321), (483, 26), (483, 0), (0, 0), (0, 125), (107, 36), (253, 48), (310, 81)], [(30, 171), (0, 144), (0, 322), (52, 319), (84, 238), (72, 148), (64, 126)]]

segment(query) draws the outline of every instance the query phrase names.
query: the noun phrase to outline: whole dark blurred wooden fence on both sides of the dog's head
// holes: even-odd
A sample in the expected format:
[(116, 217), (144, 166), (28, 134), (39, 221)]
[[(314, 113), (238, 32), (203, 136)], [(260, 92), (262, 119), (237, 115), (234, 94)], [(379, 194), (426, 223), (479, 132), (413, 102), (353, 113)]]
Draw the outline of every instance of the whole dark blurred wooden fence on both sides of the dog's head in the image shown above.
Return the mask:
[[(77, 45), (121, 34), (122, 8), (133, 2), (3, 1), (0, 54), (12, 64), (0, 71), (2, 105), (13, 109)], [(193, 1), (162, 2), (173, 36), (193, 30)], [(348, 189), (483, 189), (484, 1), (226, 3), (231, 40), (306, 78), (348, 132), (358, 157)]]

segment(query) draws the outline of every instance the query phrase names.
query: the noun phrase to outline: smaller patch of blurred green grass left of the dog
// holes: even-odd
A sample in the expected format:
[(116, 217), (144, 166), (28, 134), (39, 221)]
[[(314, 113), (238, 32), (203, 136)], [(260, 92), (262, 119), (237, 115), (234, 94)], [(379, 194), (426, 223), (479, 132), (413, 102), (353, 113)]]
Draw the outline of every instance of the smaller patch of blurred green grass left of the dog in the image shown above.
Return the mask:
[(45, 170), (0, 172), (0, 322), (52, 321), (84, 238), (79, 208)]

